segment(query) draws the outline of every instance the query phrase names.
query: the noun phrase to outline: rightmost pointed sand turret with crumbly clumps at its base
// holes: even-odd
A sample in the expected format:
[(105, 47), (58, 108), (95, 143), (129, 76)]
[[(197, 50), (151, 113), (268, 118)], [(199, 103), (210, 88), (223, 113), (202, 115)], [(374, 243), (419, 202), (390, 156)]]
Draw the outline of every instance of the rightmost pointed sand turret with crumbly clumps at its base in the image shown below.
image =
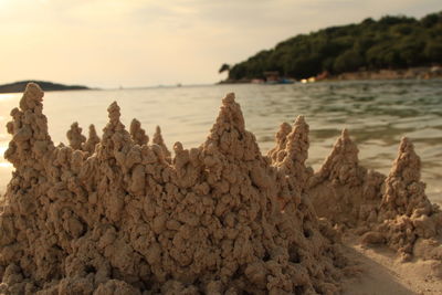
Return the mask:
[(427, 198), (420, 170), (421, 161), (412, 143), (402, 138), (398, 157), (385, 180), (378, 224), (362, 236), (362, 242), (385, 243), (404, 261), (413, 254), (441, 260), (441, 253), (436, 254), (440, 243), (428, 241), (441, 233), (442, 212)]

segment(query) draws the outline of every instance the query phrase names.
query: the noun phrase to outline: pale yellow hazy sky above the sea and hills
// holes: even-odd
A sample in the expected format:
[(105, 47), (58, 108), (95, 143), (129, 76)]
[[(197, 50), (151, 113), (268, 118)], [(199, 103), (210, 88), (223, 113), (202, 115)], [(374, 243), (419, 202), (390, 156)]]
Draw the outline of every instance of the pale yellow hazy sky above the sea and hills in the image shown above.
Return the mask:
[(218, 70), (299, 33), (440, 0), (0, 0), (0, 84), (209, 84)]

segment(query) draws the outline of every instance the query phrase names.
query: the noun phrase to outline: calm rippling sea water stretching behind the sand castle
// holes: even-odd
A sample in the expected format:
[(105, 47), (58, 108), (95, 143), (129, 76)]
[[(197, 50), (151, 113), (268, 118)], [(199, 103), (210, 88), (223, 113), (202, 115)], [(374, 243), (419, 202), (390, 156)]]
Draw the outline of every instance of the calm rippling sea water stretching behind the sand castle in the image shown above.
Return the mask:
[[(246, 127), (256, 135), (263, 152), (273, 147), (281, 123), (304, 115), (311, 126), (308, 164), (315, 169), (345, 127), (358, 144), (362, 165), (385, 173), (396, 158), (400, 138), (410, 137), (423, 162), (427, 192), (442, 202), (442, 80), (49, 92), (44, 113), (54, 143), (66, 143), (73, 122), (78, 122), (85, 135), (90, 124), (103, 129), (107, 106), (117, 101), (127, 127), (137, 118), (149, 136), (156, 125), (161, 126), (169, 146), (181, 141), (185, 147), (196, 147), (206, 139), (221, 98), (230, 92), (236, 94)], [(4, 126), (20, 97), (0, 94), (0, 191), (12, 171), (2, 158), (10, 140)]]

